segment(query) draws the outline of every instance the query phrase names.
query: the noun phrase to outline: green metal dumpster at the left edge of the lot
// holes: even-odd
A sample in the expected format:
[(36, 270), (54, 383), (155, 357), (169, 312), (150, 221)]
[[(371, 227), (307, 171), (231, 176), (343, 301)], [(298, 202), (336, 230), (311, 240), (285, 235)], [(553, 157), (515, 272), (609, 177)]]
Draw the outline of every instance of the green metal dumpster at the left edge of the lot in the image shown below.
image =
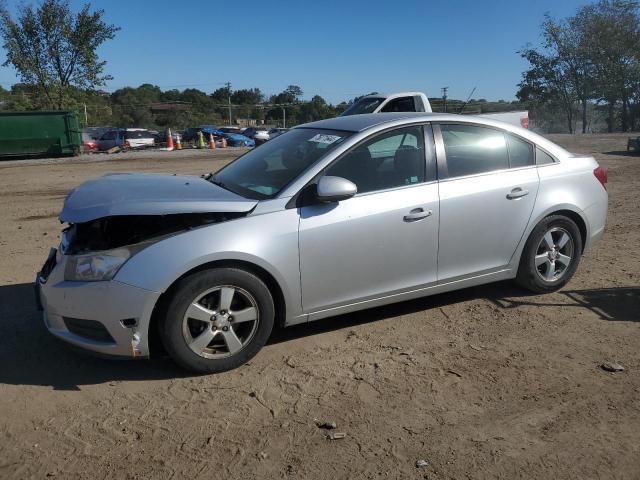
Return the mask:
[(0, 112), (0, 158), (76, 155), (81, 141), (73, 112)]

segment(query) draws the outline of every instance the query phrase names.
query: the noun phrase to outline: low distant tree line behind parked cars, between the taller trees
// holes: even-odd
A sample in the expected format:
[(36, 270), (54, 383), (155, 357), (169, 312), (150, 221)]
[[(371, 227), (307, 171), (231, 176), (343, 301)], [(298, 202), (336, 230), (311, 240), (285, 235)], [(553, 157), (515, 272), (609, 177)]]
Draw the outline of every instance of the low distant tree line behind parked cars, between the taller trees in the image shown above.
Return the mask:
[[(297, 85), (290, 85), (274, 95), (265, 95), (257, 87), (238, 90), (222, 87), (212, 93), (195, 88), (162, 90), (151, 84), (125, 87), (113, 93), (69, 87), (62, 108), (77, 112), (81, 123), (87, 126), (183, 129), (197, 125), (246, 125), (249, 122), (293, 126), (338, 116), (360, 98), (354, 97), (331, 104), (320, 95), (312, 96), (311, 100), (303, 100), (303, 93), (302, 88)], [(442, 99), (429, 100), (435, 112), (444, 111)], [(9, 90), (0, 87), (0, 109), (16, 111), (50, 108), (52, 105), (48, 98), (30, 85), (15, 84)], [(464, 102), (448, 99), (446, 108), (453, 113), (462, 109), (465, 113), (489, 113), (523, 107), (518, 102), (504, 100), (490, 102), (486, 99), (471, 99)]]

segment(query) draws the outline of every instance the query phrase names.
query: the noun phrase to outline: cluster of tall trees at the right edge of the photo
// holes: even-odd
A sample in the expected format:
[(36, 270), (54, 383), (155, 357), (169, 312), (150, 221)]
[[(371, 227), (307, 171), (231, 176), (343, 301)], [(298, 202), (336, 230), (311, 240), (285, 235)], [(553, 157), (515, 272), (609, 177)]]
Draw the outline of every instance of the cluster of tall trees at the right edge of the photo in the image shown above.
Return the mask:
[[(583, 133), (640, 127), (640, 9), (635, 0), (599, 0), (575, 15), (541, 26), (539, 46), (519, 53), (528, 62), (517, 98), (546, 131)], [(562, 119), (564, 128), (558, 125)]]

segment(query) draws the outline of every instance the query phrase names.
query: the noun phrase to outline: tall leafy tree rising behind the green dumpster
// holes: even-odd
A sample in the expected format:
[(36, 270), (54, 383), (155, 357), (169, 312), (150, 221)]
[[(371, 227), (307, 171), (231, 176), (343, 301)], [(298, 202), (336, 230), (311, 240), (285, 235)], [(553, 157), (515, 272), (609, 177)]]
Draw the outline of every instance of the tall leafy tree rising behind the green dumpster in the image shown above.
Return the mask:
[(95, 89), (112, 77), (104, 73), (97, 48), (119, 30), (106, 24), (103, 10), (86, 4), (72, 13), (67, 0), (43, 0), (38, 8), (21, 7), (14, 20), (0, 6), (0, 35), (7, 58), (22, 82), (31, 85), (52, 107), (63, 108), (71, 87)]

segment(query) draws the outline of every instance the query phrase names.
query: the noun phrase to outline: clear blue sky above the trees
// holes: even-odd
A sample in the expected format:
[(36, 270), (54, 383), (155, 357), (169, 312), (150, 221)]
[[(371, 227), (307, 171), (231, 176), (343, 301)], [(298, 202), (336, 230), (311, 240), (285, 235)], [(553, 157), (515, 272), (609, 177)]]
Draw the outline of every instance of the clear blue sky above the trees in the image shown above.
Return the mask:
[[(16, 10), (22, 0), (8, 0)], [(29, 3), (27, 1), (26, 3)], [(71, 0), (74, 8), (85, 1)], [(211, 92), (300, 85), (337, 103), (371, 91), (420, 90), (450, 98), (511, 100), (546, 12), (572, 15), (577, 0), (176, 2), (93, 0), (122, 28), (99, 50), (107, 90), (153, 83)], [(235, 6), (234, 6), (235, 5)], [(0, 60), (4, 52), (0, 48)], [(0, 84), (16, 81), (0, 67)]]

